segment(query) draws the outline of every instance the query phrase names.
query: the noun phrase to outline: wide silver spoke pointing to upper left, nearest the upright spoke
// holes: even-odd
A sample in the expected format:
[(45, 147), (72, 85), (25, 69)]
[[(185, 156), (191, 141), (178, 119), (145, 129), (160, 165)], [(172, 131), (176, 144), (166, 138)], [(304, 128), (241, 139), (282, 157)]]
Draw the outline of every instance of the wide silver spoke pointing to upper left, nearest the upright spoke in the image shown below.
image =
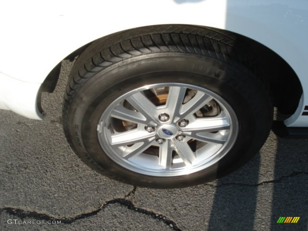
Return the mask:
[(137, 92), (126, 100), (146, 118), (146, 123), (156, 125), (159, 122), (156, 106), (144, 94)]

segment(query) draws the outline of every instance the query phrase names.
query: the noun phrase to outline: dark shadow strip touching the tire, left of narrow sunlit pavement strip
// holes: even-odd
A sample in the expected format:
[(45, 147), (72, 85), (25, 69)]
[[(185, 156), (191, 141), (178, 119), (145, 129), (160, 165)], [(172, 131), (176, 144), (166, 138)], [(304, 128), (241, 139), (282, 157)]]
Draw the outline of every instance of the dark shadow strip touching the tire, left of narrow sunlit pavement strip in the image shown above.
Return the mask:
[[(253, 230), (259, 153), (236, 172), (217, 181), (209, 230)], [(242, 179), (240, 179), (242, 177)]]

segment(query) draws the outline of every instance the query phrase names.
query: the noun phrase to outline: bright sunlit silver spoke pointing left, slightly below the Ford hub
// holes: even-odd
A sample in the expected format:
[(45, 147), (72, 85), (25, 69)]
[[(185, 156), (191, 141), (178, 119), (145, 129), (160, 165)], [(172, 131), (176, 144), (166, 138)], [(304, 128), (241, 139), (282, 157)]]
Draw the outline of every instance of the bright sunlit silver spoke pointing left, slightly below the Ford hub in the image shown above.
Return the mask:
[(135, 144), (139, 142), (148, 142), (149, 138), (154, 137), (155, 132), (148, 133), (145, 130), (134, 129), (128, 132), (121, 132), (111, 136), (111, 145), (113, 146), (125, 146)]

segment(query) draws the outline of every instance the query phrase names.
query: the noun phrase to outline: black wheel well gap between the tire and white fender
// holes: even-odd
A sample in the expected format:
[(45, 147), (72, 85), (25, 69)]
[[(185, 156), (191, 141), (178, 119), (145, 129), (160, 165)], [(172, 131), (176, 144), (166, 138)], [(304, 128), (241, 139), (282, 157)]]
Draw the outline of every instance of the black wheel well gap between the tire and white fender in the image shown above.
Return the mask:
[[(146, 28), (148, 33), (151, 34), (151, 26), (147, 26), (144, 28)], [(133, 31), (135, 29), (136, 28), (130, 29), (130, 31)], [(216, 30), (218, 33), (219, 31), (224, 31), (220, 29), (214, 30)], [(127, 30), (120, 31), (115, 34), (121, 34), (126, 31)], [(295, 74), (294, 70), (290, 67), (290, 65), (286, 63), (286, 61), (282, 59), (277, 53), (275, 53), (268, 47), (265, 47), (261, 43), (258, 43), (257, 41), (240, 34), (229, 31), (227, 31), (227, 33), (229, 36), (232, 36), (236, 39), (236, 46), (243, 47), (246, 52), (251, 52), (252, 54), (249, 55), (254, 56), (251, 58), (256, 59), (258, 69), (261, 71), (265, 81), (270, 86), (274, 107), (277, 107), (282, 114), (294, 114), (296, 108), (298, 107), (299, 99), (302, 95), (303, 90), (298, 76)], [(103, 37), (103, 40), (106, 40), (107, 38), (112, 37), (115, 34), (107, 35)], [(102, 38), (97, 40), (102, 40)], [(92, 41), (91, 43), (93, 42), (94, 41)], [(91, 45), (91, 43), (80, 47), (79, 49), (68, 55), (65, 59), (73, 61), (74, 58), (78, 55), (81, 55), (83, 51), (85, 51), (86, 48)], [(47, 78), (42, 84), (41, 92), (51, 93), (54, 91), (59, 79), (60, 69), (61, 62), (47, 76)], [(292, 95), (292, 97), (290, 97), (290, 95)]]

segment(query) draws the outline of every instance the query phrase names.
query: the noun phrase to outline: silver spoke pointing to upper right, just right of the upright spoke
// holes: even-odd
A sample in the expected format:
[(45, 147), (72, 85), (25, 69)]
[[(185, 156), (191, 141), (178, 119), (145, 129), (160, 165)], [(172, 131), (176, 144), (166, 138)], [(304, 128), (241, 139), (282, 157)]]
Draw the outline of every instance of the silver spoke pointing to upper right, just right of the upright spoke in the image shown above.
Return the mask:
[(192, 115), (212, 99), (213, 97), (201, 91), (197, 91), (197, 94), (191, 100), (182, 105), (180, 109), (180, 119)]

